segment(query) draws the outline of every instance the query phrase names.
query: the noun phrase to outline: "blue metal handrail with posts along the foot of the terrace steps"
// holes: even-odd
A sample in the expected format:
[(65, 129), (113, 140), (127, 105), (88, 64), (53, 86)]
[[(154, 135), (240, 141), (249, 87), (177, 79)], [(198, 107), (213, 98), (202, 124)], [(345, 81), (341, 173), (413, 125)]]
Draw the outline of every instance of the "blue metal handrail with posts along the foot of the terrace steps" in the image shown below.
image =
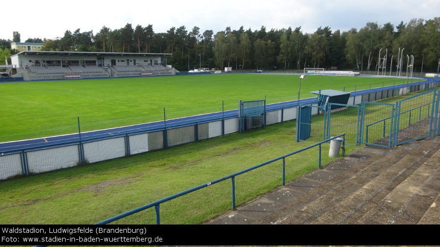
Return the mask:
[(320, 141), (320, 142), (315, 143), (315, 144), (313, 144), (313, 145), (311, 145), (311, 146), (308, 146), (308, 147), (305, 147), (305, 148), (299, 149), (299, 150), (294, 151), (294, 152), (292, 152), (292, 153), (289, 153), (289, 154), (287, 154), (287, 155), (283, 155), (283, 156), (280, 156), (280, 157), (277, 157), (277, 158), (271, 159), (271, 160), (266, 161), (266, 162), (264, 162), (264, 163), (261, 163), (261, 164), (259, 164), (259, 165), (255, 165), (255, 166), (249, 167), (249, 168), (247, 168), (247, 169), (244, 169), (244, 170), (242, 170), (242, 171), (240, 171), (240, 172), (233, 173), (233, 174), (228, 175), (228, 176), (226, 176), (226, 177), (223, 177), (223, 178), (220, 178), (220, 179), (217, 179), (217, 180), (213, 180), (213, 181), (208, 182), (208, 183), (201, 184), (201, 185), (196, 186), (196, 187), (194, 187), (194, 188), (192, 188), (192, 189), (188, 189), (188, 190), (182, 191), (182, 192), (180, 192), (180, 193), (177, 193), (177, 194), (174, 194), (174, 195), (172, 195), (172, 196), (166, 197), (166, 198), (161, 199), (161, 200), (159, 200), (159, 201), (148, 203), (147, 205), (144, 205), (144, 206), (142, 206), (142, 207), (135, 208), (135, 209), (133, 209), (133, 210), (127, 211), (127, 212), (125, 212), (125, 213), (122, 213), (122, 214), (120, 214), (120, 215), (114, 216), (114, 217), (109, 218), (109, 219), (107, 219), (107, 220), (104, 220), (104, 221), (98, 222), (98, 223), (96, 223), (95, 225), (105, 225), (105, 224), (108, 224), (108, 223), (114, 222), (114, 221), (116, 221), (116, 220), (120, 220), (120, 219), (122, 219), (122, 218), (124, 218), (124, 217), (127, 217), (127, 216), (129, 216), (129, 215), (135, 214), (135, 213), (137, 213), (137, 212), (143, 211), (143, 210), (145, 210), (145, 209), (147, 209), (147, 208), (150, 208), (150, 207), (153, 207), (153, 206), (155, 207), (155, 210), (156, 210), (156, 224), (157, 224), (157, 225), (160, 225), (160, 204), (161, 204), (161, 203), (163, 203), (163, 202), (168, 202), (168, 201), (170, 201), (170, 200), (172, 200), (172, 199), (174, 199), (174, 198), (177, 198), (177, 197), (180, 197), (180, 196), (183, 196), (183, 195), (189, 194), (189, 193), (194, 192), (194, 191), (196, 191), (196, 190), (199, 190), (199, 189), (202, 189), (202, 188), (208, 187), (208, 186), (210, 186), (210, 185), (213, 185), (213, 184), (215, 184), (215, 183), (218, 183), (218, 182), (221, 182), (221, 181), (224, 181), (224, 180), (228, 180), (228, 179), (231, 179), (231, 181), (232, 181), (232, 209), (235, 209), (235, 177), (236, 177), (236, 176), (241, 175), (241, 174), (244, 174), (244, 173), (246, 173), (246, 172), (248, 172), (248, 171), (254, 170), (254, 169), (258, 168), (258, 167), (261, 167), (261, 166), (267, 165), (267, 164), (272, 163), (272, 162), (274, 162), (274, 161), (277, 161), (277, 160), (282, 159), (282, 160), (283, 160), (283, 173), (282, 173), (282, 174), (283, 174), (283, 175), (282, 175), (282, 176), (283, 176), (283, 185), (285, 185), (285, 172), (284, 172), (284, 171), (285, 171), (285, 164), (286, 164), (286, 162), (285, 162), (285, 158), (286, 158), (286, 157), (289, 157), (289, 156), (291, 156), (291, 155), (294, 155), (294, 154), (300, 153), (300, 152), (305, 151), (305, 150), (307, 150), (307, 149), (310, 149), (310, 148), (313, 148), (313, 147), (319, 146), (318, 168), (320, 169), (320, 168), (321, 168), (321, 144), (326, 143), (326, 142), (329, 142), (329, 141), (331, 141), (331, 140), (333, 140), (333, 139), (336, 139), (336, 138), (338, 138), (338, 137), (341, 137), (341, 136), (342, 136), (342, 157), (344, 157), (344, 155), (345, 155), (345, 149), (344, 149), (344, 146), (345, 146), (345, 133), (343, 133), (343, 134), (341, 134), (341, 135), (337, 135), (337, 136), (330, 137), (330, 138), (328, 138), (328, 139), (326, 139), (326, 140)]

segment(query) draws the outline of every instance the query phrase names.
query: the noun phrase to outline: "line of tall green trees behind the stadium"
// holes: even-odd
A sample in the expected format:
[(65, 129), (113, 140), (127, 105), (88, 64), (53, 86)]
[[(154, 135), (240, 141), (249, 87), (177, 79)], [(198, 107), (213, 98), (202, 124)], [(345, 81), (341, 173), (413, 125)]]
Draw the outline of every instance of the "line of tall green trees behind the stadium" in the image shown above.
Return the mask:
[[(14, 39), (17, 36), (20, 38), (20, 34), (14, 32)], [(25, 42), (33, 41), (41, 39)], [(332, 31), (326, 26), (314, 33), (304, 33), (301, 26), (270, 30), (262, 26), (254, 31), (245, 30), (243, 26), (238, 30), (226, 27), (216, 34), (212, 30), (201, 32), (197, 26), (191, 31), (180, 26), (171, 27), (165, 33), (155, 33), (151, 24), (133, 28), (127, 23), (115, 30), (103, 26), (96, 34), (80, 32), (80, 29), (73, 33), (67, 30), (62, 38), (42, 42), (44, 50), (48, 51), (172, 53), (167, 63), (180, 71), (200, 66), (263, 70), (337, 67), (377, 71), (385, 55), (387, 71), (391, 60), (394, 67), (399, 57), (404, 67), (414, 58), (416, 72), (422, 66), (425, 72), (439, 72), (440, 69), (438, 17), (427, 21), (413, 19), (397, 26), (391, 22), (383, 25), (367, 22), (359, 30), (348, 31)]]

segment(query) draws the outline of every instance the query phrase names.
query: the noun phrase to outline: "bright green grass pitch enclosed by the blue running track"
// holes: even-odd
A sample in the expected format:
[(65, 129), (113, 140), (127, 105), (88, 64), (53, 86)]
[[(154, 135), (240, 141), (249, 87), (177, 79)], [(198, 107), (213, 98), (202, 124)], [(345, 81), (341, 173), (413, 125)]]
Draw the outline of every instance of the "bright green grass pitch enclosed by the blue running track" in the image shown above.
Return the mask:
[[(365, 90), (404, 79), (307, 76), (301, 98), (315, 90)], [(239, 100), (296, 100), (299, 75), (208, 74), (0, 84), (0, 142), (64, 135), (220, 112)]]

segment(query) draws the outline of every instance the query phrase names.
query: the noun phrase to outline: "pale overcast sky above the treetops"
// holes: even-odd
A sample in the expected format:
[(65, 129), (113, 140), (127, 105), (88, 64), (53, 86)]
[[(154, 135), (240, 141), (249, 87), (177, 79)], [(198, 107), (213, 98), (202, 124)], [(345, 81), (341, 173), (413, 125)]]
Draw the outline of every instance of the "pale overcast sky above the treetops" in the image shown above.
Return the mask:
[(21, 42), (63, 37), (66, 30), (73, 33), (78, 28), (96, 34), (104, 25), (114, 30), (127, 23), (133, 28), (152, 24), (155, 33), (173, 26), (185, 26), (188, 32), (197, 26), (200, 33), (214, 34), (228, 26), (252, 31), (261, 26), (267, 31), (301, 26), (303, 33), (329, 26), (334, 32), (359, 30), (367, 22), (396, 26), (412, 19), (426, 21), (440, 17), (439, 10), (440, 0), (22, 0), (2, 10), (0, 39), (12, 40), (14, 31), (20, 33)]

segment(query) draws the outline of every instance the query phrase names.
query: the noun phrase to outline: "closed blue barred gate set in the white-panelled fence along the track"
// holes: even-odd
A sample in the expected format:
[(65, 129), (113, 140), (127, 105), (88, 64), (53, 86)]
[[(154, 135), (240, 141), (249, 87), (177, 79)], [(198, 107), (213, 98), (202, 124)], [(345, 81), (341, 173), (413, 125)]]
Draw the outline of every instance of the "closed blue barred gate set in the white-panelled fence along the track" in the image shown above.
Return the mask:
[(239, 133), (264, 129), (266, 100), (239, 101)]

